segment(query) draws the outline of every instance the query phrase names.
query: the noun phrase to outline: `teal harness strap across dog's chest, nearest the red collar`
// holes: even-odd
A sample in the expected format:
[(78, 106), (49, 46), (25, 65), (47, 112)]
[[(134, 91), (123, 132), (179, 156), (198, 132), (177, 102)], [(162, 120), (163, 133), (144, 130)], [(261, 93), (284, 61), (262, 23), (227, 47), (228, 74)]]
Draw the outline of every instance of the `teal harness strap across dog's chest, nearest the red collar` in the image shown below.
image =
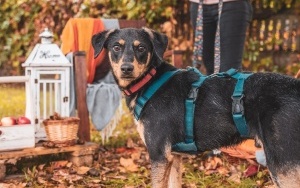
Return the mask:
[(136, 100), (136, 105), (134, 108), (134, 117), (136, 120), (140, 119), (142, 110), (148, 100), (154, 95), (154, 93), (164, 84), (166, 83), (172, 76), (174, 76), (180, 69), (175, 71), (169, 71), (160, 76), (157, 80), (155, 80), (151, 86)]

